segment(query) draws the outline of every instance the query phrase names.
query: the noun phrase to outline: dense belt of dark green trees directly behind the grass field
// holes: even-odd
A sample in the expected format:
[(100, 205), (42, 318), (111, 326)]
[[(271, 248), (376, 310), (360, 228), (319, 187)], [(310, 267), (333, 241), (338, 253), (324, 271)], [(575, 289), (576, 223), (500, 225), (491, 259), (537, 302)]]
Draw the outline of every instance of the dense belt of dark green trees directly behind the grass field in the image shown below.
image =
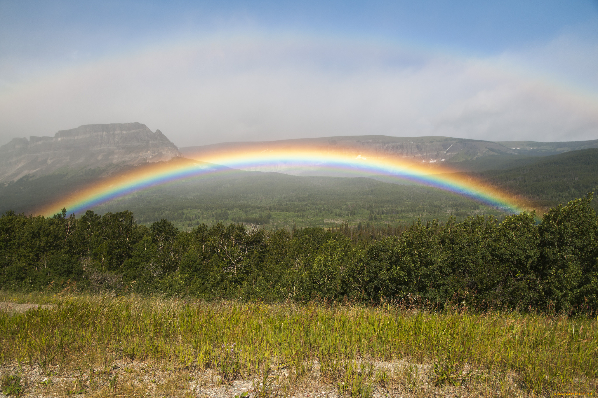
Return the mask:
[(475, 308), (598, 310), (598, 218), (592, 194), (551, 208), (408, 226), (265, 230), (130, 211), (66, 210), (0, 218), (0, 287), (120, 291), (258, 301), (456, 301)]

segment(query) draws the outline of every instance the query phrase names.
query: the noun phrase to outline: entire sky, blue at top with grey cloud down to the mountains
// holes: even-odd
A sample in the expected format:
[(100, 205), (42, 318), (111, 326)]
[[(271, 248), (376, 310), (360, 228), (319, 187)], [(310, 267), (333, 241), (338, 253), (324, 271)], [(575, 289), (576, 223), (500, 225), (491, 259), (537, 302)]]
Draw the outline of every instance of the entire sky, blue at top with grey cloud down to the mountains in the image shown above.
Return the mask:
[(598, 139), (598, 0), (0, 0), (0, 145), (125, 122), (179, 147)]

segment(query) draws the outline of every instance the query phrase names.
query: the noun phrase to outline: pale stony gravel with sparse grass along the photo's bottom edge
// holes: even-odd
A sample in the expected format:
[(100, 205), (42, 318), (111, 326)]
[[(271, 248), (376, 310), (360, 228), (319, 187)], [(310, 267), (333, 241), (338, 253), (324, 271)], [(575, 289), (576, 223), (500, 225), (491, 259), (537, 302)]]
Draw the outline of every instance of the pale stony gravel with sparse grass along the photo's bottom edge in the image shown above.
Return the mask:
[[(394, 376), (386, 385), (373, 385), (370, 394), (362, 398), (382, 397), (527, 397), (512, 378), (504, 378), (502, 387), (495, 383), (466, 382), (458, 387), (436, 386), (431, 380), (429, 365), (411, 365), (417, 368), (416, 377), (407, 377), (408, 362), (377, 362), (377, 369), (394, 369)], [(66, 365), (65, 365), (66, 368)], [(289, 377), (289, 369), (277, 369), (270, 375), (267, 388), (263, 379), (237, 379), (222, 382), (213, 369), (176, 370), (165, 365), (147, 362), (114, 362), (104, 368), (85, 368), (74, 363), (60, 371), (54, 365), (42, 369), (38, 363), (32, 366), (12, 363), (0, 366), (0, 380), (8, 375), (21, 378), (20, 397), (289, 397), (332, 398), (340, 397), (336, 384), (325, 384), (319, 378), (319, 366), (313, 363), (312, 371), (299, 380)], [(245, 393), (245, 395), (243, 395)], [(346, 396), (350, 396), (350, 393)]]

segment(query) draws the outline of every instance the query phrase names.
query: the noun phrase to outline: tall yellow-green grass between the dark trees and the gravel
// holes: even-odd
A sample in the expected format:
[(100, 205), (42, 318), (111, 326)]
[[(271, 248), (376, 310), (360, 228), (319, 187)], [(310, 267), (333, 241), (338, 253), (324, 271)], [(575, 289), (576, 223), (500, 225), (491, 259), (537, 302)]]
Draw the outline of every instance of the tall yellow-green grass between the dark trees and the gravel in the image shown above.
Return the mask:
[[(358, 362), (405, 359), (433, 363), (439, 383), (514, 372), (533, 394), (597, 388), (595, 319), (454, 308), (187, 303), (134, 295), (36, 300), (53, 307), (0, 312), (2, 363), (93, 368), (115, 360), (149, 361), (216, 369), (226, 382), (282, 367), (298, 376), (317, 361), (322, 381), (343, 383), (357, 374)], [(341, 391), (344, 384), (338, 385)]]

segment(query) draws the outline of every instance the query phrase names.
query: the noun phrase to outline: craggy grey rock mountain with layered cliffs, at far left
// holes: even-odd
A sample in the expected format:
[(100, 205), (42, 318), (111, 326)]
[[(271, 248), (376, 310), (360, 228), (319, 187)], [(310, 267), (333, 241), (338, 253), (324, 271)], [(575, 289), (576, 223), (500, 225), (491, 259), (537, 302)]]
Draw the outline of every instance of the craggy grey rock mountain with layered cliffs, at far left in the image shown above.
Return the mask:
[(181, 156), (160, 130), (141, 123), (91, 124), (62, 130), (54, 137), (14, 138), (0, 147), (0, 181), (111, 164), (136, 165)]

